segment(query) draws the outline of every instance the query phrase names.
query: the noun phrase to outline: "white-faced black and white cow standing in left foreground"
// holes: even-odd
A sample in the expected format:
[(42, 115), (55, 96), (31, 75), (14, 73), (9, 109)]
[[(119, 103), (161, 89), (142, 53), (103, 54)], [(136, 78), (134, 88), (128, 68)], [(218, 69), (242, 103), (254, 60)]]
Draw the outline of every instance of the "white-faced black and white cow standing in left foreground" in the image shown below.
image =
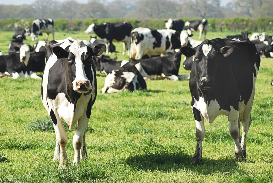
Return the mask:
[(68, 164), (67, 134), (62, 121), (70, 130), (78, 121), (73, 136), (73, 165), (76, 165), (80, 159), (87, 159), (85, 133), (97, 94), (92, 56), (102, 54), (105, 45), (98, 44), (92, 48), (90, 43), (86, 45), (82, 40), (51, 40), (45, 50), (50, 56), (42, 77), (41, 98), (56, 134), (53, 161), (59, 160), (61, 167)]

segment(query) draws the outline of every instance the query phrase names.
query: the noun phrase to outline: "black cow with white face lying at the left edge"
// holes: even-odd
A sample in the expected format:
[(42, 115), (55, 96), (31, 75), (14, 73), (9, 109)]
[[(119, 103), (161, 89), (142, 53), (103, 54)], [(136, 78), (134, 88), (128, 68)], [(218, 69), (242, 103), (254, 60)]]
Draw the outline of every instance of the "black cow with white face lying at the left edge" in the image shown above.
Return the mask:
[[(30, 47), (23, 44), (20, 47), (19, 53), (0, 56), (0, 77), (12, 77), (17, 79), (19, 77), (31, 77), (34, 79), (41, 79), (32, 72), (30, 60)], [(36, 59), (36, 58), (35, 58)], [(45, 59), (42, 60), (44, 62)]]

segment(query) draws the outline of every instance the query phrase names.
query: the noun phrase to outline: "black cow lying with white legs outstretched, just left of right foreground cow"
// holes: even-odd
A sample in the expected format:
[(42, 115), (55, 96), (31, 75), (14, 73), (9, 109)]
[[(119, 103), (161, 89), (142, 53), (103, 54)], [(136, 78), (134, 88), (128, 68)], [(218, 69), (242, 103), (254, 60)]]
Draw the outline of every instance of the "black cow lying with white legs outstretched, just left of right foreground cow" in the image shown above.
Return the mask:
[(178, 75), (181, 52), (175, 52), (171, 56), (152, 57), (148, 59), (130, 59), (144, 79), (160, 79), (168, 78), (172, 81), (178, 81), (182, 78), (189, 77), (188, 75)]

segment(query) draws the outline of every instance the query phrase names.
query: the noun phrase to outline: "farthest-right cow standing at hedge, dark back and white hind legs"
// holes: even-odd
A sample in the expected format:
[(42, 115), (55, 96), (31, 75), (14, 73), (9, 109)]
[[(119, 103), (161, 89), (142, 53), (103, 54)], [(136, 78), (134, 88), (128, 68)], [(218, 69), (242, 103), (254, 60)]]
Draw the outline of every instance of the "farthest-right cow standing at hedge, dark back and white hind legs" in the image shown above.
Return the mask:
[(206, 19), (202, 20), (192, 20), (185, 23), (184, 30), (198, 31), (199, 39), (201, 39), (202, 33), (204, 32), (204, 39), (206, 39), (208, 21)]

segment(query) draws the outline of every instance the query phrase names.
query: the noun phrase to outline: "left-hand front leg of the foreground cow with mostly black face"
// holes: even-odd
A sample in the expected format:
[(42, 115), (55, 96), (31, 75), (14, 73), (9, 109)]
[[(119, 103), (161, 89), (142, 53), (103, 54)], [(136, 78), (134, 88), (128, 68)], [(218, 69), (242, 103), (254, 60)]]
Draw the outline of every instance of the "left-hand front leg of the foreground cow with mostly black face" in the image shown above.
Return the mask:
[(202, 142), (205, 136), (205, 126), (204, 117), (201, 115), (200, 111), (195, 107), (192, 107), (192, 111), (195, 119), (195, 137), (197, 141), (192, 163), (193, 165), (196, 165), (202, 161)]

